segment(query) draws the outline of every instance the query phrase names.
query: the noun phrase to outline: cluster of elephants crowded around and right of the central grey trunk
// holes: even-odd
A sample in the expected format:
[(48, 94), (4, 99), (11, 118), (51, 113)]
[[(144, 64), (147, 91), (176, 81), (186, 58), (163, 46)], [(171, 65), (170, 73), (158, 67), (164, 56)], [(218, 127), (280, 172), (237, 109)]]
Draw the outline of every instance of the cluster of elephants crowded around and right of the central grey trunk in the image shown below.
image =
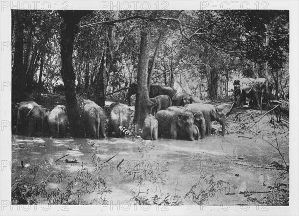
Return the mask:
[[(128, 104), (131, 96), (137, 93), (137, 85), (131, 84), (128, 90)], [(163, 135), (171, 139), (195, 141), (210, 135), (211, 122), (216, 120), (225, 134), (225, 113), (220, 107), (203, 104), (190, 94), (178, 92), (167, 86), (151, 85), (149, 100), (152, 103), (150, 113), (143, 123), (141, 137), (156, 140)]]

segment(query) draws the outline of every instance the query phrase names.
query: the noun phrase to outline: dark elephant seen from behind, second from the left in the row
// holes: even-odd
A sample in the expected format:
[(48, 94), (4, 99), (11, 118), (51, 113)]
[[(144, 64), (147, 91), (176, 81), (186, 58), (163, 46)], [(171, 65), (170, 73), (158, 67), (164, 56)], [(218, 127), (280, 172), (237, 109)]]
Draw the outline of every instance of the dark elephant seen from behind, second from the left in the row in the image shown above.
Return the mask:
[(28, 112), (28, 136), (36, 135), (38, 132), (41, 132), (41, 136), (47, 134), (49, 130), (47, 117), (49, 114), (50, 110), (41, 106), (34, 106)]

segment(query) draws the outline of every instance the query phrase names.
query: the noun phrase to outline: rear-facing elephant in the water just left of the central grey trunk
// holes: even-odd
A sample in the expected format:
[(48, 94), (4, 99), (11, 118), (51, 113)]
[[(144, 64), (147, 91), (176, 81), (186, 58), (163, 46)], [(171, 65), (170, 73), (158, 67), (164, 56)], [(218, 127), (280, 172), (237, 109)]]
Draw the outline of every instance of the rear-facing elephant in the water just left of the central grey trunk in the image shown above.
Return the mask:
[(119, 129), (119, 126), (123, 126), (128, 129), (130, 119), (131, 116), (129, 107), (120, 103), (111, 104), (108, 123), (108, 136), (111, 136), (112, 132), (115, 132), (118, 137), (122, 137), (124, 133)]

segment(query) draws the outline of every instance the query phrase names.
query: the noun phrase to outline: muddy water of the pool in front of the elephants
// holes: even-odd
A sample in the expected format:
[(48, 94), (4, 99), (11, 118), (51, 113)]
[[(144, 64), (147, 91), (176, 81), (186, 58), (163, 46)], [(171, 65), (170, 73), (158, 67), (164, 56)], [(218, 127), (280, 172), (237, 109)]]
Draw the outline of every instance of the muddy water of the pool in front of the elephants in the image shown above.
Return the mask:
[[(282, 145), (281, 150), (288, 160), (289, 147)], [(98, 159), (100, 171), (96, 172), (93, 158)], [(157, 196), (161, 202), (168, 196), (167, 199), (173, 202), (179, 198), (180, 204), (192, 205), (194, 198), (185, 195), (196, 183), (201, 184), (196, 187), (197, 192), (200, 187), (207, 188), (203, 184), (204, 176), (214, 176), (214, 181), (224, 182), (223, 190), (210, 197), (208, 204), (225, 201), (226, 205), (234, 205), (232, 200), (244, 204), (247, 198), (240, 192), (268, 191), (267, 186), (272, 185), (279, 175), (275, 170), (252, 166), (261, 167), (273, 161), (282, 162), (277, 150), (267, 142), (236, 135), (212, 135), (196, 142), (163, 138), (133, 142), (131, 138), (92, 140), (12, 136), (12, 182), (26, 170), (38, 166), (35, 183), (47, 180), (51, 173), (63, 171), (67, 177), (61, 181), (53, 178), (46, 190), (59, 188), (64, 191), (70, 181), (76, 185), (78, 170), (87, 168), (91, 174), (103, 178), (111, 192), (98, 194), (95, 191), (83, 196), (86, 204), (99, 204), (103, 200), (133, 202), (134, 196), (149, 201)], [(74, 189), (76, 187), (78, 185)]]

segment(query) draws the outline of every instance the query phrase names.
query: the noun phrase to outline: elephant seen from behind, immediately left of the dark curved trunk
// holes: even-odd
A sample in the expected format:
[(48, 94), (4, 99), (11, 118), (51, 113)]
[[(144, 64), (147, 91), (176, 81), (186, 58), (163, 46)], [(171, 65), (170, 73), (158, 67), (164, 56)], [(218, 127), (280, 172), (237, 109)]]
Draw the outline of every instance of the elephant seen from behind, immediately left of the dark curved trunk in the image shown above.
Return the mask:
[(64, 137), (69, 125), (66, 107), (57, 105), (48, 115), (48, 124), (52, 137)]

